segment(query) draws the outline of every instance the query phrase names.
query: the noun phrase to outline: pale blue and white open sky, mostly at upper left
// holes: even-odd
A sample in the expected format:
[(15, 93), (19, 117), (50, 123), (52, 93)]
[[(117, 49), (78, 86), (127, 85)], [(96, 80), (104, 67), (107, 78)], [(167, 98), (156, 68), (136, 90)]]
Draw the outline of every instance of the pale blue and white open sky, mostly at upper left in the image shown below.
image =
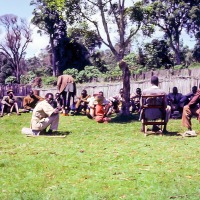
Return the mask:
[[(0, 16), (5, 14), (14, 14), (30, 22), (32, 11), (34, 9), (34, 6), (30, 6), (30, 2), (31, 0), (0, 0)], [(37, 27), (32, 24), (31, 28), (33, 29), (33, 42), (29, 44), (26, 50), (26, 58), (37, 56), (40, 53), (40, 50), (44, 49), (49, 43), (49, 39), (46, 35), (40, 36), (37, 33)], [(1, 37), (2, 31), (0, 30), (0, 38)], [(157, 33), (155, 38), (161, 39), (161, 34)], [(183, 34), (182, 39), (185, 45), (189, 46), (189, 48), (193, 48), (195, 44), (194, 38), (190, 38), (188, 35)], [(150, 42), (149, 39), (148, 42)]]

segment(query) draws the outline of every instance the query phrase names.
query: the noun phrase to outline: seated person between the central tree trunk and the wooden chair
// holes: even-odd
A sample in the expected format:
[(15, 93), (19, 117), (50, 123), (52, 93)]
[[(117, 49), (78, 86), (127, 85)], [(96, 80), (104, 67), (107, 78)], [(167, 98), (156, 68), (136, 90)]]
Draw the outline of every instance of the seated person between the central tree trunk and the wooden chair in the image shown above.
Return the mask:
[(131, 106), (132, 106), (132, 113), (135, 111), (140, 112), (140, 99), (142, 96), (142, 91), (140, 88), (136, 89), (136, 92), (130, 96), (131, 99)]

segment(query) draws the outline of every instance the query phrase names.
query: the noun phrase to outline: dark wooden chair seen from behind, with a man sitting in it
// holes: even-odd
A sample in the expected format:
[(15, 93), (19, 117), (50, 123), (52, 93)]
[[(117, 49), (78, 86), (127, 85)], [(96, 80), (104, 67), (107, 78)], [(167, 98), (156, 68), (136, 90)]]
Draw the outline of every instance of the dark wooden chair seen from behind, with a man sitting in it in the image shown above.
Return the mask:
[[(142, 131), (145, 136), (147, 135), (148, 125), (161, 125), (161, 131), (163, 133), (163, 127), (166, 126), (165, 98), (165, 95), (142, 95), (140, 119), (142, 121)], [(153, 116), (151, 119), (147, 116), (149, 114)]]

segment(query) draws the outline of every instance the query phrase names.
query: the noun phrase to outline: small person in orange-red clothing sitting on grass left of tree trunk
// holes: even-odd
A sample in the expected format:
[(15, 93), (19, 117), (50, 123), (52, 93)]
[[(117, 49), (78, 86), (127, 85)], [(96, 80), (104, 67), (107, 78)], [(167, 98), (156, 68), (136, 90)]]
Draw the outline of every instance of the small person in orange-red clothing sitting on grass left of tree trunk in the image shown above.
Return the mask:
[(108, 123), (111, 119), (108, 117), (105, 117), (105, 109), (103, 107), (103, 96), (98, 95), (96, 97), (97, 105), (95, 108), (95, 120), (98, 123)]

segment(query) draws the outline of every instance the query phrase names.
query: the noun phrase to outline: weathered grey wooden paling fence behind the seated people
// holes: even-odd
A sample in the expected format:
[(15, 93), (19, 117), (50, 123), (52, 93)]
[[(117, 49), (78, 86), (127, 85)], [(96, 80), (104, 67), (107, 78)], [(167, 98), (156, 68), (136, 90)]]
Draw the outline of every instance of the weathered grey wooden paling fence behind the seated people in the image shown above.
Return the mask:
[[(182, 70), (158, 70), (142, 73), (139, 75), (133, 75), (131, 77), (131, 93), (135, 92), (136, 88), (141, 90), (151, 86), (150, 79), (152, 75), (156, 75), (160, 80), (160, 88), (166, 93), (172, 92), (172, 88), (176, 86), (178, 91), (183, 95), (189, 93), (191, 88), (196, 85), (199, 87), (200, 81), (200, 68), (194, 69), (182, 69)], [(88, 94), (92, 95), (94, 92), (103, 91), (105, 97), (112, 97), (118, 94), (120, 88), (122, 88), (122, 80), (118, 82), (92, 82), (87, 84), (77, 84), (77, 96), (80, 95), (83, 89), (86, 89)], [(0, 85), (0, 99), (7, 95), (7, 90), (12, 89), (15, 96), (26, 96), (30, 89), (30, 85)], [(44, 97), (47, 92), (55, 94), (57, 92), (56, 87), (48, 89), (34, 89), (37, 90), (40, 96)]]

